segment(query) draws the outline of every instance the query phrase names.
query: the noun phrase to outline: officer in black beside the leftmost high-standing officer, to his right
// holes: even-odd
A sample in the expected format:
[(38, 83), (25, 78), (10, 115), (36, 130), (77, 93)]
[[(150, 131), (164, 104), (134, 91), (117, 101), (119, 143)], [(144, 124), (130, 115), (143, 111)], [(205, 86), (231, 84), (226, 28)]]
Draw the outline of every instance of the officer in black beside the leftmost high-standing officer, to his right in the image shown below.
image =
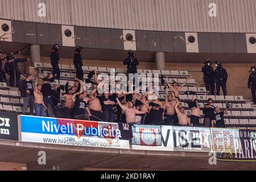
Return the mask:
[(76, 67), (76, 77), (79, 78), (79, 80), (82, 80), (82, 78), (84, 78), (84, 72), (82, 71), (81, 50), (82, 50), (81, 46), (76, 46), (75, 55), (74, 55), (74, 65)]

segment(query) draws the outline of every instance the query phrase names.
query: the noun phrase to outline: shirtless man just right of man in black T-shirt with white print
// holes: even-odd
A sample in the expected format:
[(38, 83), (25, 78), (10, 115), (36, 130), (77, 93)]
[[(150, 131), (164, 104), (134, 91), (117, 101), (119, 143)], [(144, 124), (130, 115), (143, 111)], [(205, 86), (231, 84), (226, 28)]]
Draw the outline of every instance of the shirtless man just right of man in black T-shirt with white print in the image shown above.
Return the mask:
[(102, 107), (101, 107), (101, 102), (97, 98), (97, 88), (93, 89), (92, 92), (90, 92), (88, 107), (90, 109), (90, 113), (93, 116), (101, 119), (102, 121), (105, 120), (105, 116), (104, 116), (104, 113), (103, 113)]

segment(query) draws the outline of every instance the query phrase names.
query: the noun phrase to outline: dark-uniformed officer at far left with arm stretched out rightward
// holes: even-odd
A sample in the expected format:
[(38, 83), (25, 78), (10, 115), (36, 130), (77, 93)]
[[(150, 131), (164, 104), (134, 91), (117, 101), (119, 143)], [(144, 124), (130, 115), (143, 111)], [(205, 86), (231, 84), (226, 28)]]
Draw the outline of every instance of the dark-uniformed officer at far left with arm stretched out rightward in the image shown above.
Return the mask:
[[(20, 73), (19, 73), (19, 67), (18, 63), (26, 62), (27, 59), (15, 59), (14, 53), (10, 52), (6, 56), (7, 62), (5, 64), (5, 73), (10, 74), (10, 86), (11, 87), (18, 87), (20, 83)], [(16, 83), (15, 83), (16, 80)]]

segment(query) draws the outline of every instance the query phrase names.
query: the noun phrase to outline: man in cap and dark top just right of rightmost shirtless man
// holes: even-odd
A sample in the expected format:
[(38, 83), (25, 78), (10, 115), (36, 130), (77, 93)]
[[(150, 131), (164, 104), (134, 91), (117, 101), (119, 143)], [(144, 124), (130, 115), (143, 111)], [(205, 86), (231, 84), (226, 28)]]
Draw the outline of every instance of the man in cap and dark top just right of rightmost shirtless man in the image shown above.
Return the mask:
[(208, 99), (208, 104), (204, 105), (203, 114), (204, 114), (204, 126), (211, 126), (211, 118), (214, 116), (215, 107), (213, 106), (212, 98)]

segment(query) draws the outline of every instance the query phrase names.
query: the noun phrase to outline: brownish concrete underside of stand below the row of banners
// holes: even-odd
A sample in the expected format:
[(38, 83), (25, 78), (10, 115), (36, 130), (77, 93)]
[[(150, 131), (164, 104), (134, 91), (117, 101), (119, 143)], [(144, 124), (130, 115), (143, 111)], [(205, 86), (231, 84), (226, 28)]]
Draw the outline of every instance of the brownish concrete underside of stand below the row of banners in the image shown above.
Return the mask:
[[(1, 142), (0, 162), (27, 164), (27, 169), (52, 170), (52, 166), (60, 166), (61, 170), (89, 169), (135, 169), (135, 170), (255, 170), (253, 162), (217, 162), (208, 163), (207, 153), (192, 152), (154, 152), (130, 151), (54, 146), (46, 144)], [(38, 152), (46, 152), (46, 165), (38, 164)]]

